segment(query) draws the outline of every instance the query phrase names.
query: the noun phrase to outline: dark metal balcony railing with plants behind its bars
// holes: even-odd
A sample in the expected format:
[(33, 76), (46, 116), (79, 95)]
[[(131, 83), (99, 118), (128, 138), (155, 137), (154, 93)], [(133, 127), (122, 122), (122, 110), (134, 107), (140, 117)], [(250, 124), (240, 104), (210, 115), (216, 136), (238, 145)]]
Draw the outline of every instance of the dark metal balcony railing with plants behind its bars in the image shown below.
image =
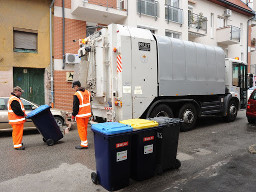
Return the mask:
[(207, 33), (207, 17), (188, 11), (188, 29), (197, 28), (197, 31), (204, 30)]

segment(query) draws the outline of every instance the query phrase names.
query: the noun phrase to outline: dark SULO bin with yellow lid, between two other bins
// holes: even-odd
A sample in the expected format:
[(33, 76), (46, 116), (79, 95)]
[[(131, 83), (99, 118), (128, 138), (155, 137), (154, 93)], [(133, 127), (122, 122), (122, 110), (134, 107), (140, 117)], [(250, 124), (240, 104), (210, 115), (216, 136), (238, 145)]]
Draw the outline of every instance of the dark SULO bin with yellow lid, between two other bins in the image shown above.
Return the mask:
[(120, 121), (133, 128), (131, 136), (130, 178), (142, 181), (154, 176), (156, 132), (161, 128), (155, 121), (129, 119)]

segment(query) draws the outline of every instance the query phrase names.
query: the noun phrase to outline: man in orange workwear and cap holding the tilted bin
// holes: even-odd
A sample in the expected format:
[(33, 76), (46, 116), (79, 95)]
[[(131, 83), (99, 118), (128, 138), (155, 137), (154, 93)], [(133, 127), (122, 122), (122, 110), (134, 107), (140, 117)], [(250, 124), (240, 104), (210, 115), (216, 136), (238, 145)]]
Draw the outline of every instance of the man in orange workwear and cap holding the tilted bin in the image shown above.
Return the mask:
[(20, 100), (20, 96), (24, 92), (20, 87), (16, 86), (13, 88), (11, 93), (7, 108), (8, 108), (8, 120), (12, 127), (12, 141), (13, 147), (16, 150), (24, 150), (22, 146), (22, 136), (23, 136), (23, 125), (26, 122), (25, 119), (25, 109)]

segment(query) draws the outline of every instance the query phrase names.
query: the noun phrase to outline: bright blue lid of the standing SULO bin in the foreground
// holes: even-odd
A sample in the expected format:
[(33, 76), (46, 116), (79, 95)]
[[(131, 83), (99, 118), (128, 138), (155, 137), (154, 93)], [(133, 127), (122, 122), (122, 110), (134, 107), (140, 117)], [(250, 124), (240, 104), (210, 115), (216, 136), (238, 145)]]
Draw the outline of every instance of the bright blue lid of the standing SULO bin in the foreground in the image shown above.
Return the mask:
[(133, 131), (130, 125), (124, 125), (117, 122), (93, 124), (91, 125), (91, 130), (99, 133), (103, 133), (105, 135), (112, 135), (112, 134)]

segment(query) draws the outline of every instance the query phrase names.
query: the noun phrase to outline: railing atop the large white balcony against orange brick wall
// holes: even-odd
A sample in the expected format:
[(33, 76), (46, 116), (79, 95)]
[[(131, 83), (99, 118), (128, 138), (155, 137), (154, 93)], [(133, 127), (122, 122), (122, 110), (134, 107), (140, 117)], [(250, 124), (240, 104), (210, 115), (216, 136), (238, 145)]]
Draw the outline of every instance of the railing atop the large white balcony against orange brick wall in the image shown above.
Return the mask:
[[(114, 8), (114, 9), (117, 9), (117, 10), (127, 11), (127, 9), (124, 8), (124, 1), (123, 0), (118, 0), (117, 3), (116, 3), (116, 1), (112, 1), (112, 0), (82, 0), (82, 2), (83, 2), (83, 6), (84, 6), (85, 3), (90, 3), (90, 4), (96, 4), (96, 5), (99, 5), (99, 6), (104, 6), (104, 7), (106, 7), (106, 10), (107, 10), (107, 8)], [(116, 6), (116, 4), (118, 6)]]

